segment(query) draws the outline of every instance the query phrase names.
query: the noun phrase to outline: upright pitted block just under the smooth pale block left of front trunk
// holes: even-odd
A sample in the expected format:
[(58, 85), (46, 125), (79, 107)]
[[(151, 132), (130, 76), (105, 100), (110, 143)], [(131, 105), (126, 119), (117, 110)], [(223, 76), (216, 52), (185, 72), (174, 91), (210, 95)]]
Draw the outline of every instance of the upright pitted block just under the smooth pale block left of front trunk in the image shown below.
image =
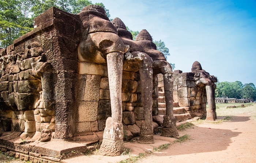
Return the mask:
[(84, 101), (99, 101), (99, 85), (101, 76), (87, 75), (84, 89)]

